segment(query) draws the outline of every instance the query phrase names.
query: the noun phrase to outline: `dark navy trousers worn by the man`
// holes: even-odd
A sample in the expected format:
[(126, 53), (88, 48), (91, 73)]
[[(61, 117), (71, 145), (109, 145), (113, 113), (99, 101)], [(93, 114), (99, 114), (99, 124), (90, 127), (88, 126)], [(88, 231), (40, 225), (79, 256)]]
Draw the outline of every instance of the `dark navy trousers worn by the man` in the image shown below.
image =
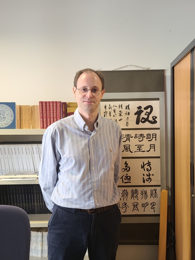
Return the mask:
[(121, 213), (117, 205), (89, 215), (54, 205), (48, 223), (48, 260), (115, 260)]

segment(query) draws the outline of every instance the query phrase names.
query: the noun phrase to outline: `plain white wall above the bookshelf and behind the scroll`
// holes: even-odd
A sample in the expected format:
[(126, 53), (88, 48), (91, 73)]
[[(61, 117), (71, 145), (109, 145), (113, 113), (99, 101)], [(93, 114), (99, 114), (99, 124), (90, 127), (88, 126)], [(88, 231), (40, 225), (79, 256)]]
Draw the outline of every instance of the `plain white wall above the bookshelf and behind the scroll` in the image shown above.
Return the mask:
[(194, 0), (1, 0), (0, 102), (72, 102), (86, 67), (165, 69), (170, 186), (170, 63), (195, 38), (194, 10)]

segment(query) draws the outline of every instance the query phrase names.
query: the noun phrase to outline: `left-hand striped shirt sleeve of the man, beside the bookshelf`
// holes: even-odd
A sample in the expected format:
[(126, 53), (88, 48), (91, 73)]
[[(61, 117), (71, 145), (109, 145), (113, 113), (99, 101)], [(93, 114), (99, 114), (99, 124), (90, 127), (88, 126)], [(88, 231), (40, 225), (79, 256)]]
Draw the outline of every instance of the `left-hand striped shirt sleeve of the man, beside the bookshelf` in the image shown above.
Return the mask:
[(51, 195), (58, 181), (58, 168), (59, 168), (59, 151), (55, 145), (56, 137), (51, 133), (51, 128), (48, 128), (42, 140), (42, 157), (39, 166), (39, 184), (43, 193), (45, 204), (52, 212), (53, 201)]

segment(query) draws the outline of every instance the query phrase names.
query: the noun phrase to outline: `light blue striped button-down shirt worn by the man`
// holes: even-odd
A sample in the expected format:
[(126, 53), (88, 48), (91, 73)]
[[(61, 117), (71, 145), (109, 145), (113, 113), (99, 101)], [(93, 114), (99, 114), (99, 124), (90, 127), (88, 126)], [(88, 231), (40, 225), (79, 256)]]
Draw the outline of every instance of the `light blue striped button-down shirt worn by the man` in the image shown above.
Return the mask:
[(100, 208), (117, 203), (122, 130), (98, 115), (94, 131), (80, 116), (61, 119), (43, 136), (39, 183), (47, 207)]

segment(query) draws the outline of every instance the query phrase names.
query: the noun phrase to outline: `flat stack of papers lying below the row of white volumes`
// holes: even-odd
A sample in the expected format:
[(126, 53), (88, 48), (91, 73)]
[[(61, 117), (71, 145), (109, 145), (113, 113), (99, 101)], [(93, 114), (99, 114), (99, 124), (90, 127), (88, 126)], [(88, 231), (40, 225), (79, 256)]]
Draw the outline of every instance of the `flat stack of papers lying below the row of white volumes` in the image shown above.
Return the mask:
[(38, 171), (17, 171), (8, 172), (0, 176), (1, 180), (37, 180), (39, 172)]

